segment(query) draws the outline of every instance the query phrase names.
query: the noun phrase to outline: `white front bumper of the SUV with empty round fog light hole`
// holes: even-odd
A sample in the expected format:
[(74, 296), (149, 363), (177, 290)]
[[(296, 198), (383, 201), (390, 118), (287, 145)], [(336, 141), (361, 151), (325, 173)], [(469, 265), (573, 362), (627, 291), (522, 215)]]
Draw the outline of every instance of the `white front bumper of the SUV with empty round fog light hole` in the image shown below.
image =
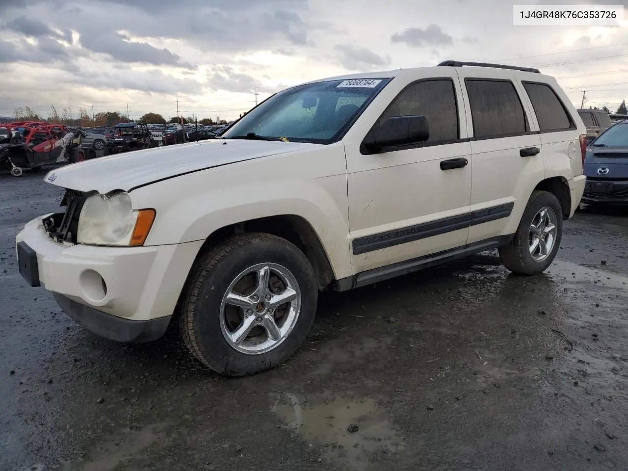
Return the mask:
[[(16, 236), (19, 269), (32, 286), (55, 293), (70, 317), (99, 335), (117, 332), (106, 327), (107, 315), (118, 318), (119, 325), (155, 319), (167, 325), (202, 241), (149, 247), (63, 245), (43, 229), (47, 216), (31, 220)], [(118, 338), (146, 336), (138, 327), (131, 331)]]

